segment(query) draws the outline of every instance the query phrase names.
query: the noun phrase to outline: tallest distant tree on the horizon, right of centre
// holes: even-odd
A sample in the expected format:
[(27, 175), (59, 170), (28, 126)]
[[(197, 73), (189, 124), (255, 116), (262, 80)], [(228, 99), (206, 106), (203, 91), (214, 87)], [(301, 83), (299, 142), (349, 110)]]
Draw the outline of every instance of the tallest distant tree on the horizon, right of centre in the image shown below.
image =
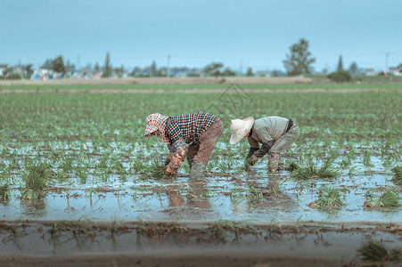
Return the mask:
[(311, 65), (316, 61), (316, 58), (312, 58), (308, 51), (308, 40), (301, 38), (299, 44), (291, 45), (290, 50), (291, 55), (286, 54), (286, 60), (283, 61), (287, 75), (296, 76), (312, 73), (314, 69)]

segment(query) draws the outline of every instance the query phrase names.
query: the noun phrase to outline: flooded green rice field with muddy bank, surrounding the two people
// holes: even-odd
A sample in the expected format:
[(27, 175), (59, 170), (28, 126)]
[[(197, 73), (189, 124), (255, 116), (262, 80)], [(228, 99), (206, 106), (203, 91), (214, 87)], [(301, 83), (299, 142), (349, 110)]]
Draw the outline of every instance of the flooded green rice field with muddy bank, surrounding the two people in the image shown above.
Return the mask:
[[(209, 111), (220, 94), (1, 95), (0, 266), (359, 266), (368, 239), (402, 247), (400, 93), (275, 96), (220, 107), (193, 182), (186, 162), (154, 175), (168, 150), (144, 117)], [(277, 173), (267, 157), (246, 172), (247, 142), (228, 144), (227, 122), (250, 112), (298, 122)]]

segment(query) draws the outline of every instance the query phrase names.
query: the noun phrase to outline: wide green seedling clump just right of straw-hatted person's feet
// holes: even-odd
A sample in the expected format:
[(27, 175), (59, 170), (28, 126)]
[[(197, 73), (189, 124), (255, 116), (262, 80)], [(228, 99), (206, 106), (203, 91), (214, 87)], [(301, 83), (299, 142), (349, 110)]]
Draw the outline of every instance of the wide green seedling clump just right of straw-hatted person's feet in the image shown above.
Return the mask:
[(313, 178), (332, 178), (338, 175), (338, 170), (333, 166), (332, 160), (326, 160), (324, 165), (319, 167), (312, 160), (308, 160), (308, 163), (304, 166), (299, 166), (291, 173), (291, 177), (307, 180)]

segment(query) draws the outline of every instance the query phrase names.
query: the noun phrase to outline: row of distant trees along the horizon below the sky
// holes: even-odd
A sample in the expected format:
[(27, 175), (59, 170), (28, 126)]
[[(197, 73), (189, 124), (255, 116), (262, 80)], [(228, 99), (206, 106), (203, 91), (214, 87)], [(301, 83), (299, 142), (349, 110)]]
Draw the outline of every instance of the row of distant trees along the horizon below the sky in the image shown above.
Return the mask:
[[(289, 50), (290, 53), (287, 53), (285, 60), (283, 60), (283, 67), (286, 73), (283, 74), (280, 70), (275, 70), (271, 72), (271, 76), (299, 76), (313, 74), (313, 64), (316, 62), (316, 58), (313, 57), (312, 53), (309, 51), (308, 40), (305, 38), (300, 38), (298, 43), (291, 44)], [(74, 64), (70, 64), (70, 61), (64, 63), (61, 55), (54, 59), (46, 60), (41, 68), (51, 69), (56, 73), (62, 74), (69, 74), (76, 70), (76, 66)], [(402, 71), (402, 63), (399, 65), (399, 68)], [(187, 77), (243, 76), (242, 73), (238, 73), (230, 68), (224, 69), (224, 64), (222, 62), (211, 62), (203, 69), (189, 69), (186, 67), (171, 69), (168, 69), (168, 67), (163, 67), (157, 69), (156, 62), (152, 61), (152, 64), (149, 67), (143, 69), (135, 67), (131, 72), (127, 72), (123, 66), (119, 68), (112, 68), (110, 53), (106, 53), (106, 59), (102, 67), (96, 63), (94, 68), (88, 65), (86, 66), (86, 69), (94, 73), (102, 73), (102, 77), (122, 77), (125, 74), (130, 77), (169, 77), (172, 76), (172, 73), (176, 73), (177, 71), (185, 72), (185, 76)], [(21, 71), (22, 75), (30, 77), (30, 75), (33, 73), (32, 64), (22, 66), (21, 70), (23, 70)], [(349, 70), (344, 70), (342, 57), (340, 56), (337, 70), (329, 74), (328, 77), (337, 82), (348, 82), (351, 77), (357, 76), (358, 74), (357, 63), (353, 62), (350, 65)], [(251, 68), (248, 68), (245, 76), (253, 77), (255, 76), (255, 73)], [(13, 71), (11, 68), (4, 70), (3, 77), (19, 78), (18, 73), (15, 73), (15, 71)]]

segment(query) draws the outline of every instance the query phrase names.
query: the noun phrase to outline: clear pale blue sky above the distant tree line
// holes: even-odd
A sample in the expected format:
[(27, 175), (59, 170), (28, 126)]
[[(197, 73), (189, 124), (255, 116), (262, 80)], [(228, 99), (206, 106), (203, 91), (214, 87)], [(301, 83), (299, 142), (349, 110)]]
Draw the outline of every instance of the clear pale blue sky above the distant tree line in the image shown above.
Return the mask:
[[(400, 0), (0, 0), (0, 64), (284, 70), (308, 40), (315, 71), (402, 63)], [(169, 60), (168, 60), (169, 59)]]

